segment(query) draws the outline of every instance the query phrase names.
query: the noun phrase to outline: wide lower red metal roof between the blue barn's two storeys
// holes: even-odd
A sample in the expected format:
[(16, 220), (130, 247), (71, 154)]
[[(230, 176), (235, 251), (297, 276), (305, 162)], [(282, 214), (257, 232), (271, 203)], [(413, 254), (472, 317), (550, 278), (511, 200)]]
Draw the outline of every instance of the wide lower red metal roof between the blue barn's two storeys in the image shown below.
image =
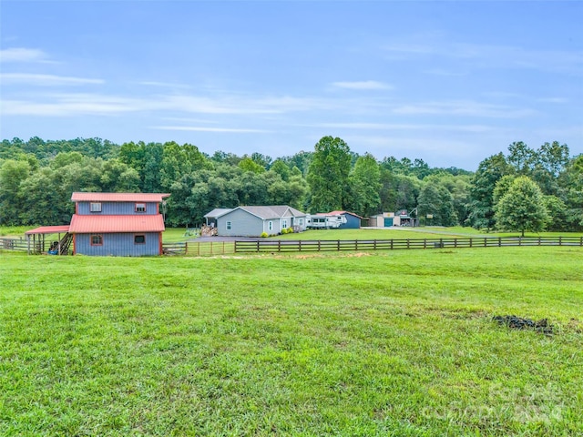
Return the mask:
[(69, 232), (90, 234), (102, 232), (162, 232), (161, 214), (148, 216), (80, 216), (73, 215)]

